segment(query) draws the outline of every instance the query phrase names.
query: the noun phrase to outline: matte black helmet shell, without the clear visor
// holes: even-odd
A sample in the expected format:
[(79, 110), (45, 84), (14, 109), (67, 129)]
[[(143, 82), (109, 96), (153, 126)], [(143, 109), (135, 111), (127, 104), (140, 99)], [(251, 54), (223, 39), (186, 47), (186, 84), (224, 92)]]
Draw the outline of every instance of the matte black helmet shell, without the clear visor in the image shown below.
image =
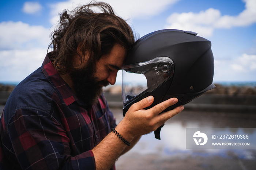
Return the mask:
[(151, 107), (171, 97), (179, 99), (174, 106), (177, 107), (177, 105), (184, 105), (215, 87), (212, 84), (214, 57), (211, 42), (196, 36), (196, 33), (171, 29), (151, 32), (134, 43), (124, 65), (146, 62), (157, 57), (172, 59), (174, 63), (172, 78), (158, 87), (161, 90), (155, 89), (124, 106), (124, 115), (133, 103), (150, 95), (159, 96)]

